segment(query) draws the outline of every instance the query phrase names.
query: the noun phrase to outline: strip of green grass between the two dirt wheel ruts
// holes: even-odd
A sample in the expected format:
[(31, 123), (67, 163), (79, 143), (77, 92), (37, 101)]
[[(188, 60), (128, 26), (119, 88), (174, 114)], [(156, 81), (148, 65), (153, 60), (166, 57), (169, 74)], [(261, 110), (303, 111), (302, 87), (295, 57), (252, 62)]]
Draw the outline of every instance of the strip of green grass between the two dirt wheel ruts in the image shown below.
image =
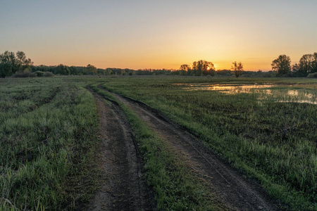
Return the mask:
[(186, 163), (130, 108), (97, 85), (94, 84), (92, 89), (105, 98), (116, 101), (128, 118), (142, 154), (147, 182), (154, 191), (159, 210), (228, 210), (203, 185), (194, 171), (188, 171)]

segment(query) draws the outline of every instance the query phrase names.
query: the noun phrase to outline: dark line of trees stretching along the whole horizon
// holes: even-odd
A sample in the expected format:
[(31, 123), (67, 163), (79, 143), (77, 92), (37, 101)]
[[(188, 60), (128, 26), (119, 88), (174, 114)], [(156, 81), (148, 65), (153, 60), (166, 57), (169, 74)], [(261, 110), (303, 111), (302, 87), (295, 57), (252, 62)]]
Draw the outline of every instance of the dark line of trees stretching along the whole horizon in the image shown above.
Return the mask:
[[(17, 53), (5, 51), (0, 54), (0, 77), (41, 77), (51, 75), (183, 75), (183, 76), (232, 76), (240, 77), (306, 77), (317, 72), (317, 53), (305, 54), (299, 63), (292, 65), (290, 57), (280, 55), (272, 61), (272, 70), (244, 71), (242, 63), (232, 63), (230, 70), (217, 70), (212, 62), (197, 60), (189, 65), (180, 65), (179, 70), (174, 69), (122, 69), (122, 68), (96, 68), (94, 65), (68, 66), (68, 65), (33, 65), (30, 58), (23, 51)], [(317, 77), (317, 73), (315, 74)]]

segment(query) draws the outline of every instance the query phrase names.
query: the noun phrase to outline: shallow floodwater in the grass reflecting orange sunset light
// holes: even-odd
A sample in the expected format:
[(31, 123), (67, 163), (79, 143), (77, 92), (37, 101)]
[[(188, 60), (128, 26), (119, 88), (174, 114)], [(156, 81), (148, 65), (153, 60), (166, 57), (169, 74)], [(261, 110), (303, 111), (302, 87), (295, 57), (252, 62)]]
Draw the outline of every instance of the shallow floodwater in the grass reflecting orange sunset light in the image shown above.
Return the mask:
[(317, 105), (316, 84), (175, 84), (188, 91), (208, 90), (233, 95), (255, 94), (261, 101), (310, 103)]

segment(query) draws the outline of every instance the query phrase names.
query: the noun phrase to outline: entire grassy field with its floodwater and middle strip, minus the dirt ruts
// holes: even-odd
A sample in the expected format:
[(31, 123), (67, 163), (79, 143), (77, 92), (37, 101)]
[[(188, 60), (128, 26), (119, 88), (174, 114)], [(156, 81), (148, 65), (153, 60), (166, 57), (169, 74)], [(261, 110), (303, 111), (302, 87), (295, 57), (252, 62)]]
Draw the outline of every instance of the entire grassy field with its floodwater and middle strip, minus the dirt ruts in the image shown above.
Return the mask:
[(0, 210), (78, 209), (92, 198), (101, 183), (100, 126), (87, 85), (125, 113), (159, 210), (230, 208), (188, 170), (182, 153), (108, 91), (194, 134), (280, 209), (316, 210), (316, 79), (212, 77), (2, 79)]

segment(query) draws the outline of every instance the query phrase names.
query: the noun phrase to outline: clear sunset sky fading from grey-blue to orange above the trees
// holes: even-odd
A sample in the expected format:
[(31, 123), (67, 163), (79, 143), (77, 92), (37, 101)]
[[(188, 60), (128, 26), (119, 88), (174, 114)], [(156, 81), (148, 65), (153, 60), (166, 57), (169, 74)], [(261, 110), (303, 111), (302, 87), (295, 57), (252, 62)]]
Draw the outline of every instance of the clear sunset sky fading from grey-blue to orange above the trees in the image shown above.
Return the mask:
[(0, 53), (35, 65), (271, 70), (317, 52), (316, 0), (0, 0)]

